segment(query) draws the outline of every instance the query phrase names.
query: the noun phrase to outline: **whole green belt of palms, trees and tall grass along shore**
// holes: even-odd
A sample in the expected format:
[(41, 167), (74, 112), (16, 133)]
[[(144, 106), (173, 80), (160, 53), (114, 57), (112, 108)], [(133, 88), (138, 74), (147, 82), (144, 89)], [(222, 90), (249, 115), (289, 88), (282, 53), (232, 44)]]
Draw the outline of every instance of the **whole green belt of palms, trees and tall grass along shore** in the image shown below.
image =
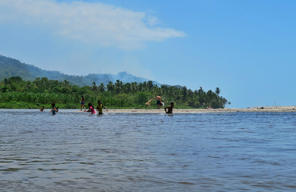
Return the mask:
[(182, 89), (171, 86), (153, 84), (152, 81), (143, 83), (123, 83), (119, 79), (113, 84), (95, 82), (92, 86), (78, 87), (71, 85), (67, 80), (59, 82), (49, 80), (46, 77), (36, 78), (33, 82), (23, 81), (20, 77), (10, 77), (0, 82), (0, 108), (50, 108), (52, 102), (59, 108), (75, 109), (80, 108), (81, 95), (86, 98), (86, 106), (91, 102), (94, 106), (97, 100), (101, 100), (107, 108), (156, 108), (156, 100), (152, 106), (145, 106), (145, 102), (161, 95), (166, 106), (175, 102), (174, 108), (205, 108), (211, 105), (212, 108), (224, 108), (231, 104), (223, 97), (219, 97), (220, 89), (204, 92), (202, 87), (192, 91), (186, 86)]

